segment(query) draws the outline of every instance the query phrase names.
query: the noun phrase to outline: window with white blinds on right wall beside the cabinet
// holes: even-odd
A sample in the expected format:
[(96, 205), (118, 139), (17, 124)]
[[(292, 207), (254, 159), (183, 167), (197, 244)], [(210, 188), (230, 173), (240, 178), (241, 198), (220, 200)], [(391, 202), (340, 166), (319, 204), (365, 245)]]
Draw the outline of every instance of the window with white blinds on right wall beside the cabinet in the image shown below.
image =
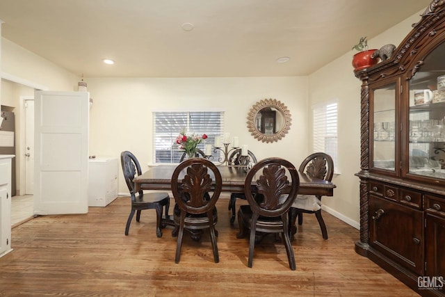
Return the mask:
[(337, 102), (313, 106), (313, 119), (314, 152), (329, 154), (337, 168)]

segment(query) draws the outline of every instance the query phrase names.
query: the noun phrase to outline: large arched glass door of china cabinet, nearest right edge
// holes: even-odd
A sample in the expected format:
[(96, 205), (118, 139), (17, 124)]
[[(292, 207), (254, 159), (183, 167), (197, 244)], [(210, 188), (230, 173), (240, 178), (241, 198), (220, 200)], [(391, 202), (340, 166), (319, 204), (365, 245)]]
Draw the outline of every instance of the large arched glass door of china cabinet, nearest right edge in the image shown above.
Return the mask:
[(445, 179), (444, 55), (440, 45), (410, 81), (408, 173), (433, 179)]

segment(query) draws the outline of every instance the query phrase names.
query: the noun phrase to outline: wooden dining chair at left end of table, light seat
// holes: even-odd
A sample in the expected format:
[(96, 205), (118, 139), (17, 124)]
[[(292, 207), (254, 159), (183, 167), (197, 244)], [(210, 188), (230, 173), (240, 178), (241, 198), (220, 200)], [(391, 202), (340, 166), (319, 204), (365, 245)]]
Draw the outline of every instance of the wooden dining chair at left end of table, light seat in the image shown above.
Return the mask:
[(161, 223), (163, 207), (165, 207), (165, 217), (168, 217), (168, 208), (170, 207), (170, 195), (167, 192), (143, 193), (143, 190), (135, 193), (133, 179), (141, 175), (140, 165), (136, 156), (129, 151), (120, 154), (122, 172), (131, 195), (131, 211), (125, 226), (125, 235), (128, 235), (131, 220), (136, 212), (136, 222), (140, 221), (140, 212), (144, 209), (156, 209), (156, 236), (162, 236)]

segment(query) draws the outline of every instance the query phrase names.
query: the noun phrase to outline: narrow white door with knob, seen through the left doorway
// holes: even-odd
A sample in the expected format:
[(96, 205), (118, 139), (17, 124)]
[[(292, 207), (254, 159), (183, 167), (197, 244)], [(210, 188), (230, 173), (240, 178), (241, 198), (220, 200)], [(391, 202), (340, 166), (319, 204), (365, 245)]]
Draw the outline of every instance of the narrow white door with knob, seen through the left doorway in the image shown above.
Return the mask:
[(25, 194), (34, 193), (34, 99), (25, 104)]

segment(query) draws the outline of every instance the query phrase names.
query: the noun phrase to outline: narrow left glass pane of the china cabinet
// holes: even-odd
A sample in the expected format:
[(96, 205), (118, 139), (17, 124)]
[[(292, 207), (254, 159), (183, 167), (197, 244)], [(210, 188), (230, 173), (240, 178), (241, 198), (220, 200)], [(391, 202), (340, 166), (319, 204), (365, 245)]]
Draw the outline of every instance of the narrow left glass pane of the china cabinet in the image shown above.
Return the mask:
[(396, 83), (373, 92), (373, 168), (395, 170)]

